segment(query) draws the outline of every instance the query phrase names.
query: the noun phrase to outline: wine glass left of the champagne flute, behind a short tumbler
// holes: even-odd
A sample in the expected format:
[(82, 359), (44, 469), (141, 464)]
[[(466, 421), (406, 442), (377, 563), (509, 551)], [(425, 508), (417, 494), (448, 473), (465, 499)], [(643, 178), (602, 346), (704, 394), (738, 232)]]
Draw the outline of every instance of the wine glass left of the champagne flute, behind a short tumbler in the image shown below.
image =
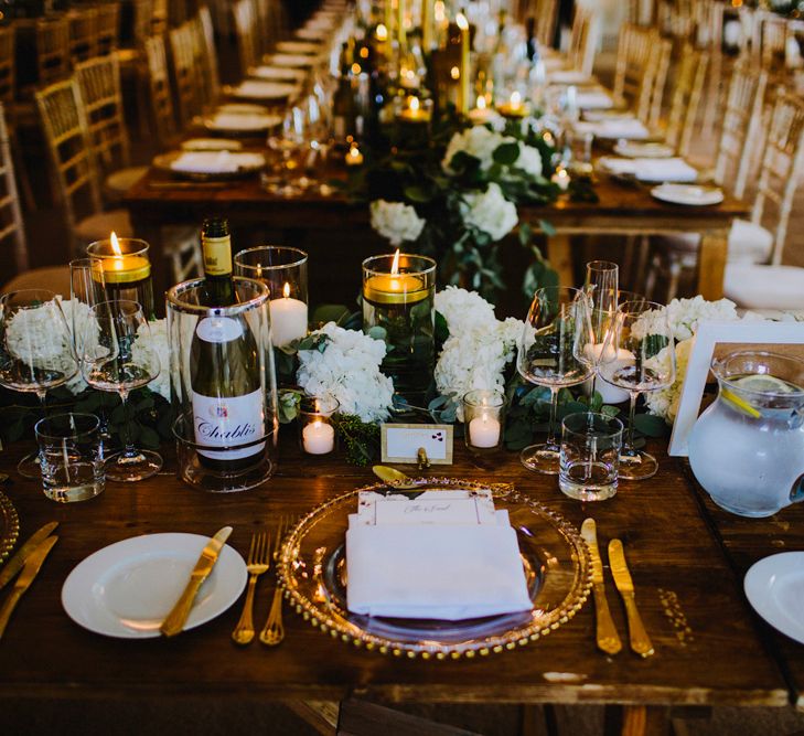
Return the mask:
[(558, 392), (593, 375), (592, 343), (589, 298), (583, 291), (562, 286), (536, 291), (519, 341), (516, 369), (526, 381), (549, 387), (550, 423), (547, 441), (526, 447), (519, 455), (528, 470), (558, 473)]

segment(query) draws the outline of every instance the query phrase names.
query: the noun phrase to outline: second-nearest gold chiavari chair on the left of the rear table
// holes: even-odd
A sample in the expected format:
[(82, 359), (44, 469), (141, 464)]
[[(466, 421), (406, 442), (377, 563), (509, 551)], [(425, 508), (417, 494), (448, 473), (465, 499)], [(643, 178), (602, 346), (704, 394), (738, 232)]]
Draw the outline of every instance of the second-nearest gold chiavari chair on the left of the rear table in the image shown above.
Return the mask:
[(75, 257), (84, 246), (115, 231), (131, 237), (133, 228), (126, 210), (104, 212), (89, 127), (78, 84), (74, 78), (35, 93), (44, 138), (53, 166), (53, 180), (64, 210)]

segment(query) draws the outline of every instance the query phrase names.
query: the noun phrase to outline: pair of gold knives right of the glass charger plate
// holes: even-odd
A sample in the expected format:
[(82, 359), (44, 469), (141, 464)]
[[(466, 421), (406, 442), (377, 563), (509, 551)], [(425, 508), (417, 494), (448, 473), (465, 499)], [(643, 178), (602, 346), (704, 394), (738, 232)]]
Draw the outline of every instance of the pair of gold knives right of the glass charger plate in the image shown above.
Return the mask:
[[(607, 654), (617, 654), (622, 649), (620, 636), (611, 618), (609, 604), (605, 599), (603, 583), (603, 561), (598, 548), (598, 532), (593, 519), (586, 519), (581, 525), (581, 536), (589, 547), (592, 559), (592, 591), (594, 596), (594, 611), (597, 615), (596, 639), (598, 648)], [(634, 584), (625, 563), (625, 553), (620, 540), (609, 542), (609, 565), (614, 585), (625, 606), (625, 616), (629, 623), (629, 639), (631, 649), (640, 657), (651, 657), (654, 653), (653, 643), (645, 631), (642, 618), (636, 609)]]

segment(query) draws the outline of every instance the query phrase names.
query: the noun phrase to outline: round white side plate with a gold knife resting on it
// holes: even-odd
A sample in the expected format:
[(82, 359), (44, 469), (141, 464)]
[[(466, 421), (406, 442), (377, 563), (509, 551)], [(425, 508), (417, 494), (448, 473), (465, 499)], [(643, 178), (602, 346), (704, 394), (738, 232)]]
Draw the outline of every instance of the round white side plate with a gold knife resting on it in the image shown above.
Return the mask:
[[(62, 587), (62, 606), (76, 623), (119, 639), (151, 639), (175, 605), (208, 537), (146, 534), (99, 550)], [(184, 625), (192, 629), (223, 614), (246, 587), (246, 563), (224, 546)]]

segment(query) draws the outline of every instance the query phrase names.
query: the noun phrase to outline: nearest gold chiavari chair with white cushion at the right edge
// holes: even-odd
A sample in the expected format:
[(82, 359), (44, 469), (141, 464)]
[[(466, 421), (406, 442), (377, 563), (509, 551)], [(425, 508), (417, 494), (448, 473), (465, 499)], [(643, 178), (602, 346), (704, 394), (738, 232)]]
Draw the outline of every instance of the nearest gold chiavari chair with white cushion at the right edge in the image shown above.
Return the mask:
[(782, 265), (793, 196), (804, 173), (804, 100), (780, 92), (771, 116), (751, 223), (771, 235), (768, 262), (732, 254), (723, 294), (748, 309), (804, 309), (804, 268)]

